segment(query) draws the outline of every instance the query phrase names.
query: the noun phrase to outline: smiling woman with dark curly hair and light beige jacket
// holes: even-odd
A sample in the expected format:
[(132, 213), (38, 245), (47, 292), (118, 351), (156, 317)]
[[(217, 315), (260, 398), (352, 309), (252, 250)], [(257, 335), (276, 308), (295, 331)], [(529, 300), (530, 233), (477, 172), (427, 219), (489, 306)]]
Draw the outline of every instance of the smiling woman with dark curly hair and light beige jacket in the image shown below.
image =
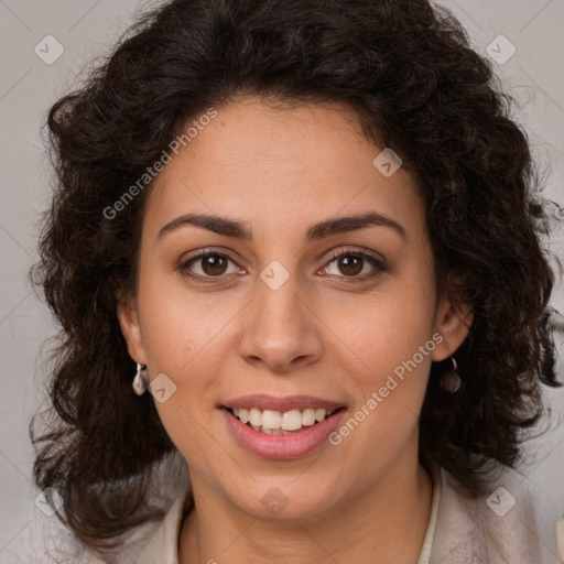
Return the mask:
[(556, 381), (508, 116), (423, 0), (141, 19), (48, 118), (35, 274), (64, 340), (35, 479), (77, 539), (143, 564), (556, 562), (512, 469)]

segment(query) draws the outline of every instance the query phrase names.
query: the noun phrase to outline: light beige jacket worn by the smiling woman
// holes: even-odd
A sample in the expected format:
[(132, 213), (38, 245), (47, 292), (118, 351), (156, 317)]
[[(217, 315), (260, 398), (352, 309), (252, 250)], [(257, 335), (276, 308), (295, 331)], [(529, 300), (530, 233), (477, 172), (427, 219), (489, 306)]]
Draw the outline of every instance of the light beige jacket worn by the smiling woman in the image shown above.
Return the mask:
[[(135, 564), (178, 564), (186, 497), (181, 492)], [(489, 496), (466, 498), (441, 469), (417, 564), (561, 564), (549, 516), (549, 505), (513, 470), (503, 469)]]

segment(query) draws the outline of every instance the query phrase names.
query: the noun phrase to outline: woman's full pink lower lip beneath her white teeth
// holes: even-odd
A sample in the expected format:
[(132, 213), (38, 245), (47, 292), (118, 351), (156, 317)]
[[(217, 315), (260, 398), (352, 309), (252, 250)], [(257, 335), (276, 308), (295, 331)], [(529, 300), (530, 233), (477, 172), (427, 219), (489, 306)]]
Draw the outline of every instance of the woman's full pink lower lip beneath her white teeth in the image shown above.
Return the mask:
[(231, 433), (247, 451), (261, 458), (285, 460), (306, 456), (323, 443), (328, 443), (328, 436), (337, 429), (345, 410), (334, 413), (321, 423), (302, 427), (302, 431), (291, 435), (260, 433), (241, 423), (228, 410), (221, 409), (221, 412)]

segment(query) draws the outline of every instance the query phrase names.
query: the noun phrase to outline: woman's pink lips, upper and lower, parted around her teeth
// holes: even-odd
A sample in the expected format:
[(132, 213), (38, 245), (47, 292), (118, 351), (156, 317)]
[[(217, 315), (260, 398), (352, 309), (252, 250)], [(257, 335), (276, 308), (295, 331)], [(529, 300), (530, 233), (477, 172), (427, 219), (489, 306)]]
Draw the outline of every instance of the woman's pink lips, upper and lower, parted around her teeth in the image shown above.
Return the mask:
[(254, 431), (241, 423), (226, 408), (257, 408), (263, 410), (275, 410), (280, 412), (290, 410), (303, 410), (306, 408), (337, 410), (343, 403), (313, 398), (311, 395), (293, 395), (291, 398), (274, 398), (272, 395), (258, 394), (237, 398), (226, 402), (221, 413), (228, 427), (238, 443), (248, 452), (273, 460), (300, 458), (313, 453), (323, 443), (328, 443), (327, 437), (339, 425), (345, 410), (339, 410), (328, 419), (314, 425), (302, 427), (301, 431), (289, 435), (269, 435)]

